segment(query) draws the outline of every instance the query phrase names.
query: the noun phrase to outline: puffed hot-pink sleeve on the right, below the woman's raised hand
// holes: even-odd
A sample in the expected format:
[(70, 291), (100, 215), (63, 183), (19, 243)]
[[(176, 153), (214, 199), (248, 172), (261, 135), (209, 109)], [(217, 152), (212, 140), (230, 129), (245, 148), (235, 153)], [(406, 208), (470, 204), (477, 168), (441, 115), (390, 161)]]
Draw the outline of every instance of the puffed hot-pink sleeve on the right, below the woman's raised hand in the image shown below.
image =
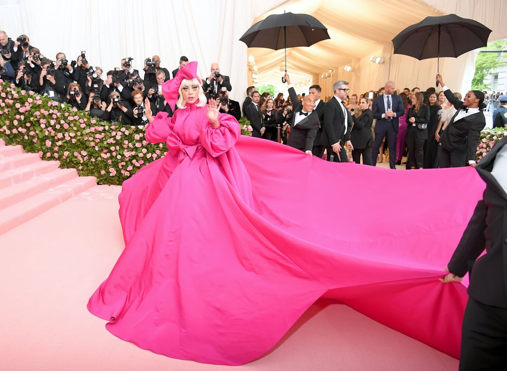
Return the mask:
[(201, 144), (213, 157), (227, 152), (236, 144), (241, 129), (238, 121), (228, 114), (219, 114), (220, 126), (215, 128), (209, 122), (201, 129)]

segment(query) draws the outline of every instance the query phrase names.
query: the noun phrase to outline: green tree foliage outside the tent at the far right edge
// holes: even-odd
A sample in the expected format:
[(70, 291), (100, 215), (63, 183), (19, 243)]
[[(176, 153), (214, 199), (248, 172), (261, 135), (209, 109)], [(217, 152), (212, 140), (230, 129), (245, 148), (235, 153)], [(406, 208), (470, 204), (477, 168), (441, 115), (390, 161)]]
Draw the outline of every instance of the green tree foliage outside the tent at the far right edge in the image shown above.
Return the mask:
[[(506, 50), (507, 40), (493, 41), (481, 49)], [(505, 64), (507, 64), (507, 55), (505, 53), (479, 53), (476, 59), (476, 72), (472, 79), (472, 89), (491, 90), (491, 84), (484, 83), (484, 80), (492, 70)]]

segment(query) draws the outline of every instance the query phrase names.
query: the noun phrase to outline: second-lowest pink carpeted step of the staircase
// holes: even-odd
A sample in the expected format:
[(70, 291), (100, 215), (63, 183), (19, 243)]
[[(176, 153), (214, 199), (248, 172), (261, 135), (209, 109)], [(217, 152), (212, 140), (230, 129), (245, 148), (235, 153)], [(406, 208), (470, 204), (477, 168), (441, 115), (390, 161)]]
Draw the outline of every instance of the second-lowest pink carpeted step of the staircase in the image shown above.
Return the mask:
[(11, 185), (0, 192), (0, 209), (47, 191), (56, 185), (78, 177), (76, 169), (56, 169), (47, 174), (28, 179), (22, 183)]

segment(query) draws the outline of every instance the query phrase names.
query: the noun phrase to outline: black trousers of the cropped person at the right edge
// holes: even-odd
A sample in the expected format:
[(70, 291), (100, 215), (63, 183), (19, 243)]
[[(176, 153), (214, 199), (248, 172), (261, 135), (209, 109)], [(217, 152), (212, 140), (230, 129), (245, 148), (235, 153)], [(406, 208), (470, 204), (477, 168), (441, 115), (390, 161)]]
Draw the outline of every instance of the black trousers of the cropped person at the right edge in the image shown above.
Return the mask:
[(459, 370), (507, 367), (507, 308), (468, 298), (461, 331)]

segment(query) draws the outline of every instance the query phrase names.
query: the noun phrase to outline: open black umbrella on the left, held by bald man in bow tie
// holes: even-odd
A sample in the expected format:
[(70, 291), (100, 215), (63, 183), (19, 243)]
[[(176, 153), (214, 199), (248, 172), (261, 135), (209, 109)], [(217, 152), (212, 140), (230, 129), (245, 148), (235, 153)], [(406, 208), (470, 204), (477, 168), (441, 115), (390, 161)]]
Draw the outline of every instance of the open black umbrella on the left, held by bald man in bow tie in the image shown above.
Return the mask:
[[(308, 14), (272, 14), (252, 25), (240, 41), (249, 48), (285, 49), (285, 72), (287, 72), (287, 48), (310, 46), (330, 39), (328, 29)], [(282, 77), (282, 81), (284, 81)]]

